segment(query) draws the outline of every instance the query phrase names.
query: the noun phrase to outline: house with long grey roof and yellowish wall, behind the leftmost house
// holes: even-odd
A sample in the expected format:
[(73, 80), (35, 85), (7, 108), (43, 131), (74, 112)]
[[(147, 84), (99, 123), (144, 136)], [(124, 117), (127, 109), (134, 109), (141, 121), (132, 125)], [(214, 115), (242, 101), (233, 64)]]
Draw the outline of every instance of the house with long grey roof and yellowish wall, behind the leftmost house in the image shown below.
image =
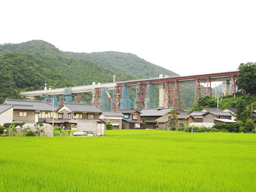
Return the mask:
[[(4, 104), (12, 104), (12, 105), (22, 105), (22, 106), (34, 106), (40, 113), (38, 115), (38, 121), (44, 122), (42, 119), (51, 119), (52, 118), (52, 109), (55, 111), (58, 109), (58, 106), (52, 106), (47, 102), (42, 100), (17, 100), (17, 99), (6, 99)], [(54, 118), (56, 118), (56, 112), (54, 112)]]

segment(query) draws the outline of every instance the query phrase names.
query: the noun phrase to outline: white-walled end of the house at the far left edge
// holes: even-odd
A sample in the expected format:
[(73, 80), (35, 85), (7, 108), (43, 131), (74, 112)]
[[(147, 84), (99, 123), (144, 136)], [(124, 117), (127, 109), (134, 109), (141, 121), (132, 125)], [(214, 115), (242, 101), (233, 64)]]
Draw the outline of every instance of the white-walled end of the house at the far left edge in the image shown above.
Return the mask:
[(0, 125), (13, 122), (13, 106), (0, 105)]

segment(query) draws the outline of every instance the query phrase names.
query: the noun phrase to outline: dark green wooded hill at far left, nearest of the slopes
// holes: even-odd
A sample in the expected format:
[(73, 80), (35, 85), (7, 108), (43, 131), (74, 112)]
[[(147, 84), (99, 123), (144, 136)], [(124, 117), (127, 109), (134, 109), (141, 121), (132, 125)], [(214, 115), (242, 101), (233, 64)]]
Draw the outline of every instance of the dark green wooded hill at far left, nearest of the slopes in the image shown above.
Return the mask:
[(40, 67), (41, 61), (22, 52), (6, 52), (0, 55), (0, 103), (6, 98), (21, 99), (20, 90), (38, 90), (44, 84), (52, 88), (73, 86), (61, 74)]

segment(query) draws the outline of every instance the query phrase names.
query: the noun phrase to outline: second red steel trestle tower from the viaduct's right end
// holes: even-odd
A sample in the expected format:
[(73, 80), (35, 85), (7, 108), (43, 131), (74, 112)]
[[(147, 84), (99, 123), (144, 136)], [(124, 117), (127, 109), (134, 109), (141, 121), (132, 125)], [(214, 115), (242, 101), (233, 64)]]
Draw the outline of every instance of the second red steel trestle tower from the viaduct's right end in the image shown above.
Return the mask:
[(212, 87), (211, 87), (211, 79), (210, 77), (205, 78), (196, 78), (196, 90), (195, 90), (195, 102), (200, 97), (204, 97), (205, 95), (209, 95), (212, 98)]

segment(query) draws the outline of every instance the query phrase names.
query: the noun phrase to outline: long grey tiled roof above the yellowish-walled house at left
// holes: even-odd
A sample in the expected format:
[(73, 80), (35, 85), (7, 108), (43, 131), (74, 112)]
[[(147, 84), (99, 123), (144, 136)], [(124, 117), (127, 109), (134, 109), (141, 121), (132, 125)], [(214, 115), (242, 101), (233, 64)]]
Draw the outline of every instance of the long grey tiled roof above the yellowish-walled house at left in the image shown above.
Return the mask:
[[(52, 111), (52, 104), (44, 102), (42, 100), (17, 100), (17, 99), (6, 99), (8, 104), (19, 104), (19, 105), (32, 105), (35, 106), (39, 111)], [(58, 109), (54, 106), (54, 110)]]

